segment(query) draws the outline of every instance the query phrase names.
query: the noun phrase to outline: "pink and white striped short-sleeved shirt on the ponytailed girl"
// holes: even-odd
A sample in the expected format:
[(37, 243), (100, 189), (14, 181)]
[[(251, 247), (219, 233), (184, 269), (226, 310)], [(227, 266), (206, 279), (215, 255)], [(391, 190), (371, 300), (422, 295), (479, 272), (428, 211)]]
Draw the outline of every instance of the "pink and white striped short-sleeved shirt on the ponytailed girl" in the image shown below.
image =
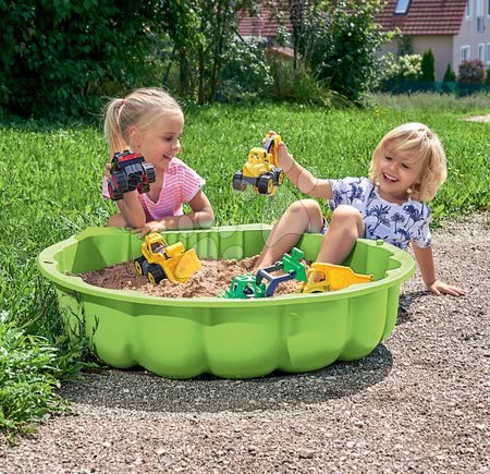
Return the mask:
[[(182, 205), (192, 200), (205, 184), (206, 181), (192, 168), (179, 158), (173, 158), (169, 169), (163, 173), (163, 184), (158, 200), (154, 203), (147, 194), (137, 194), (145, 210), (146, 221), (161, 220), (168, 216), (182, 216), (184, 214)], [(102, 196), (110, 199), (107, 177), (102, 180)]]

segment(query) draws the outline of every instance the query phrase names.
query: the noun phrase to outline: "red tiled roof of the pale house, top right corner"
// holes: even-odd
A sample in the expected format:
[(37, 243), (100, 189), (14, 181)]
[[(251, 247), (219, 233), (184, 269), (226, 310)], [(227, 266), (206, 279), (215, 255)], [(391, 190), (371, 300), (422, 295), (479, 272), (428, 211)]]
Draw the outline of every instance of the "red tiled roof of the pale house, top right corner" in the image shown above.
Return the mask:
[(394, 14), (396, 0), (388, 0), (378, 22), (403, 35), (457, 35), (467, 0), (411, 0), (406, 14)]

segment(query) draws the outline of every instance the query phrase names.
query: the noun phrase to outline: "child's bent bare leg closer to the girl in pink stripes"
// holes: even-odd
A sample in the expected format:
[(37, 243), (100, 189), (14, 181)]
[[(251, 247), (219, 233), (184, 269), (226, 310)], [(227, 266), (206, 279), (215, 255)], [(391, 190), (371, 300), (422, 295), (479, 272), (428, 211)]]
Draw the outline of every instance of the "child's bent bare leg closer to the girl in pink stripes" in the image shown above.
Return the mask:
[(303, 199), (293, 203), (267, 239), (264, 250), (254, 265), (269, 267), (296, 245), (305, 232), (320, 232), (323, 228), (323, 216), (320, 205), (314, 199)]

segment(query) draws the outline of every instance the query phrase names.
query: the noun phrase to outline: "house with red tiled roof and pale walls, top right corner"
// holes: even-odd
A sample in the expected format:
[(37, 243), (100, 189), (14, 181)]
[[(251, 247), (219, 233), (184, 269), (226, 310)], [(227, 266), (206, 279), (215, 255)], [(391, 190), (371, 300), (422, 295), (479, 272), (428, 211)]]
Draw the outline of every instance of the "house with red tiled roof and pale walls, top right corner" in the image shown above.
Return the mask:
[[(438, 81), (448, 64), (456, 73), (471, 59), (490, 66), (490, 0), (388, 0), (378, 21), (387, 31), (399, 27), (414, 53), (431, 48)], [(393, 40), (382, 52), (397, 54), (397, 45)]]

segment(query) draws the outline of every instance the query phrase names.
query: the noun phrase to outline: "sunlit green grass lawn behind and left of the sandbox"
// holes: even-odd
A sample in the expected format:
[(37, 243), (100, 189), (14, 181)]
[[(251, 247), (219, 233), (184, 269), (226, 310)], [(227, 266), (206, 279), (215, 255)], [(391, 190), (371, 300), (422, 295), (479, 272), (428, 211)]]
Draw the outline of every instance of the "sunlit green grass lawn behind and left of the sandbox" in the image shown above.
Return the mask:
[[(188, 108), (181, 158), (206, 179), (217, 226), (271, 222), (301, 197), (290, 183), (273, 199), (231, 189), (233, 172), (267, 131), (279, 132), (295, 158), (318, 177), (342, 178), (366, 175), (383, 134), (420, 121), (440, 136), (448, 155), (448, 182), (431, 203), (436, 223), (489, 207), (490, 123), (463, 120), (489, 113), (489, 96), (445, 106), (439, 96), (375, 100), (379, 106), (367, 110)], [(103, 226), (114, 206), (100, 195), (108, 161), (101, 127), (25, 122), (1, 129), (0, 428), (12, 434), (62, 409), (52, 390), (60, 376), (79, 368), (84, 351), (64, 339), (53, 289), (38, 275), (36, 257), (87, 226)]]

